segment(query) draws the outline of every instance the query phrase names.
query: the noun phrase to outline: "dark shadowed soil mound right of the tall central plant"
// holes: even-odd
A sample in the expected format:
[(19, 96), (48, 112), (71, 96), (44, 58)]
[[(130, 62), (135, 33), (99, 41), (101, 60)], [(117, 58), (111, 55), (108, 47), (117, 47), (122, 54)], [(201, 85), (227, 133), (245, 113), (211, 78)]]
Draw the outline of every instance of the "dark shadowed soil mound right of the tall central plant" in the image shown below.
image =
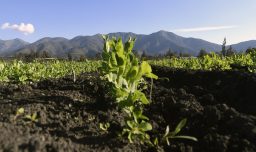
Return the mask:
[(153, 69), (154, 104), (167, 123), (188, 118), (185, 133), (199, 139), (193, 151), (256, 151), (255, 74)]

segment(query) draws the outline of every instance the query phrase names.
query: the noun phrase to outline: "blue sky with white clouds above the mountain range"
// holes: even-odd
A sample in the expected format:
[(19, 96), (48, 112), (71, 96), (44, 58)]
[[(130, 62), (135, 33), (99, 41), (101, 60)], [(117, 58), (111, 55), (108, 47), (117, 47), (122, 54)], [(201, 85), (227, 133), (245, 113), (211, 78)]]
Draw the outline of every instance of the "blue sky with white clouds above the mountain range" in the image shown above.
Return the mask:
[(0, 39), (166, 30), (232, 44), (256, 39), (255, 16), (256, 0), (1, 0)]

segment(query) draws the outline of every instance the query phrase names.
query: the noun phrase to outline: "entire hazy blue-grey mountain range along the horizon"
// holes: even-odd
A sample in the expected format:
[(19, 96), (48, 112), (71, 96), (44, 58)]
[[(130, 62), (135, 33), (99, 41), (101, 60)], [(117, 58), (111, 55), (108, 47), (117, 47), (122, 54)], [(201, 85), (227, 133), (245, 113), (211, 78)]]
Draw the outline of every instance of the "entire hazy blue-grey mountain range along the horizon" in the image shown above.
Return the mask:
[[(109, 33), (110, 37), (121, 37), (124, 41), (128, 37), (136, 37), (134, 49), (139, 53), (146, 52), (148, 55), (165, 54), (169, 49), (177, 53), (189, 53), (197, 55), (201, 49), (207, 52), (220, 51), (221, 45), (197, 38), (185, 38), (172, 32), (158, 31), (149, 35), (135, 33)], [(245, 51), (249, 47), (256, 47), (256, 40), (240, 42), (232, 45), (237, 51)], [(101, 34), (93, 36), (77, 36), (73, 39), (63, 37), (45, 37), (34, 43), (28, 43), (21, 39), (0, 40), (0, 56), (14, 56), (18, 53), (48, 52), (53, 57), (67, 57), (85, 55), (93, 57), (100, 53), (103, 48)]]

